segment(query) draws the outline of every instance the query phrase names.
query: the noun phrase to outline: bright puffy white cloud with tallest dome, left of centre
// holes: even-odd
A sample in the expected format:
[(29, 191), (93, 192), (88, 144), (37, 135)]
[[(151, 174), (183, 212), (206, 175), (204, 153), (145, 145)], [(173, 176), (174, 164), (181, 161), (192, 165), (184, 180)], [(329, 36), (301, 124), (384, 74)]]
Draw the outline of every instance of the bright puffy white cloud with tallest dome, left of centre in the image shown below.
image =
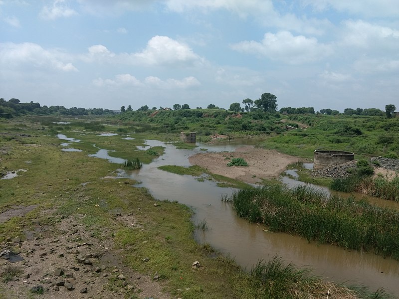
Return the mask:
[(133, 65), (193, 65), (204, 62), (187, 44), (159, 35), (151, 38), (147, 47), (137, 53), (113, 53), (104, 45), (93, 45), (88, 50), (87, 54), (81, 55), (86, 62)]

